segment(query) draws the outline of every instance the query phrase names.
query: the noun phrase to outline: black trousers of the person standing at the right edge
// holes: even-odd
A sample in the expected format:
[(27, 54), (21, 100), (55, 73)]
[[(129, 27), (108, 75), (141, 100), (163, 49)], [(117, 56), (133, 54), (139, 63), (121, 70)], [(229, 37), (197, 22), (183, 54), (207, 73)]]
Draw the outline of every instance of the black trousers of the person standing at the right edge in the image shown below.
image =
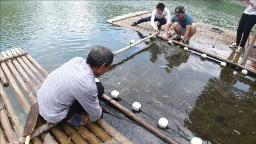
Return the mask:
[[(240, 47), (242, 48), (244, 47), (254, 24), (256, 24), (256, 16), (254, 14), (251, 14), (251, 15), (245, 14), (245, 13), (242, 14), (239, 21), (238, 28), (237, 28), (237, 32), (236, 32), (236, 44), (238, 46), (240, 44)], [(243, 35), (243, 38), (242, 38), (242, 35)], [(241, 38), (242, 38), (242, 41), (240, 43)]]

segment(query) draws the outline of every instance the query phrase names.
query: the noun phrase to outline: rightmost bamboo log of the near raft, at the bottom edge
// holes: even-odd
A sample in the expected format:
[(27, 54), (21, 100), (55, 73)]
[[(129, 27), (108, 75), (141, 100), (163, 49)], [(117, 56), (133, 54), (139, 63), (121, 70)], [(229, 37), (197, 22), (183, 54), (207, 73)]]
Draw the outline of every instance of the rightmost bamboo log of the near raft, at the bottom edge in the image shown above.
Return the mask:
[(108, 124), (102, 118), (96, 120), (96, 124), (98, 124), (98, 126), (100, 126), (103, 130), (105, 130), (110, 136), (112, 136), (116, 141), (120, 142), (121, 144), (132, 144), (130, 140), (120, 134), (120, 132), (110, 126), (110, 124)]

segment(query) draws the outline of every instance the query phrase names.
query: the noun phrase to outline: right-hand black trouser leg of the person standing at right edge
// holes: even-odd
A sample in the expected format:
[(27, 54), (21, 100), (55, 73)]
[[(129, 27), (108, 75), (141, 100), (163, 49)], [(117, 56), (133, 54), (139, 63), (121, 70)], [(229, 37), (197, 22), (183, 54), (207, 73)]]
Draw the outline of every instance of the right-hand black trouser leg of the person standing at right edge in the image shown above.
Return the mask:
[(254, 24), (256, 24), (256, 17), (255, 15), (248, 15), (247, 16), (247, 19), (246, 19), (246, 22), (245, 23), (245, 26), (244, 26), (244, 34), (243, 34), (243, 37), (242, 37), (242, 40), (240, 42), (240, 47), (241, 48), (244, 48), (244, 45), (246, 44), (246, 41), (250, 35), (250, 32), (251, 32), (251, 29), (252, 27), (254, 26)]

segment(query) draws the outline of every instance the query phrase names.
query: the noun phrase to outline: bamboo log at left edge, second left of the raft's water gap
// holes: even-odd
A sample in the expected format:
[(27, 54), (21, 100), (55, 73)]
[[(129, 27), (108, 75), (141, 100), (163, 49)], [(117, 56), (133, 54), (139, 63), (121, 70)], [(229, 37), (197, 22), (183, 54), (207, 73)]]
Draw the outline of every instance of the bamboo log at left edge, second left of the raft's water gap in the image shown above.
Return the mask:
[(8, 138), (9, 142), (15, 141), (16, 140), (16, 136), (14, 135), (12, 126), (9, 122), (9, 118), (6, 114), (6, 111), (4, 109), (4, 102), (2, 102), (2, 99), (0, 100), (1, 106), (0, 106), (0, 121), (1, 121), (1, 125), (4, 129), (5, 135)]

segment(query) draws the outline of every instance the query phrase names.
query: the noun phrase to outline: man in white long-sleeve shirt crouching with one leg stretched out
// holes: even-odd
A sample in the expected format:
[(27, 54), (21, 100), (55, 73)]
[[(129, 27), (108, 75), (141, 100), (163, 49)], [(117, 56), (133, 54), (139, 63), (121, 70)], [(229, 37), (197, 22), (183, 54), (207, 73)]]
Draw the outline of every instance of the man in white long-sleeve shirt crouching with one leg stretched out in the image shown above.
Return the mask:
[[(162, 25), (169, 24), (170, 22), (170, 12), (168, 8), (165, 8), (165, 5), (163, 3), (159, 3), (156, 5), (156, 10), (152, 12), (151, 16), (142, 18), (137, 22), (132, 23), (131, 26), (136, 26), (137, 24), (140, 24), (142, 22), (149, 22), (149, 21), (151, 26), (154, 28), (154, 30), (156, 32), (159, 32), (158, 29), (160, 29)], [(159, 22), (157, 27), (155, 26), (154, 21)]]

